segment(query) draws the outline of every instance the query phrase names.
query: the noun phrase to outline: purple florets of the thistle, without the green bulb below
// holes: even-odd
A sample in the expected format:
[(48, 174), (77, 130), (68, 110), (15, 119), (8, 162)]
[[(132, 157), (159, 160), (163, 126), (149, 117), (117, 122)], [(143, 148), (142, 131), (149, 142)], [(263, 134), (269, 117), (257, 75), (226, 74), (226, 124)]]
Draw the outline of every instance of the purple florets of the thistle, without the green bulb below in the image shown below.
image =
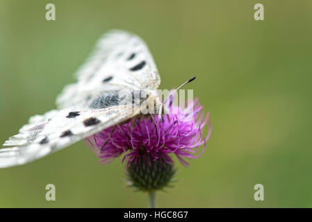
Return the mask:
[[(148, 116), (134, 118), (127, 123), (102, 130), (85, 141), (90, 149), (97, 153), (102, 164), (108, 164), (121, 155), (124, 155), (122, 162), (126, 161), (127, 166), (131, 162), (136, 164), (140, 157), (151, 159), (148, 161), (162, 158), (170, 164), (173, 163), (170, 155), (174, 154), (181, 164), (187, 167), (188, 162), (185, 158), (200, 157), (205, 151), (206, 141), (211, 135), (209, 114), (207, 113), (204, 118), (204, 111), (198, 99), (188, 104), (184, 110), (172, 105), (172, 101), (168, 101), (165, 105), (170, 113), (162, 117), (154, 115), (155, 121)], [(206, 123), (208, 135), (203, 137), (202, 129)], [(202, 144), (204, 148), (196, 155)]]

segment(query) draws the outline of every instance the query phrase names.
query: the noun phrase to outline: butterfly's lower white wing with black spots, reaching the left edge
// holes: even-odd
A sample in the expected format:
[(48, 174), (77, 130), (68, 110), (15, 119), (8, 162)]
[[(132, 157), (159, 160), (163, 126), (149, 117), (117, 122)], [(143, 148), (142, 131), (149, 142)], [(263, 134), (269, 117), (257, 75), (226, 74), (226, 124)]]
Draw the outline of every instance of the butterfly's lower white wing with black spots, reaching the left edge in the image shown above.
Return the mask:
[[(52, 110), (32, 117), (19, 134), (10, 137), (0, 149), (0, 168), (25, 164), (94, 135), (135, 114), (132, 105), (105, 109)], [(6, 148), (8, 147), (8, 148)]]

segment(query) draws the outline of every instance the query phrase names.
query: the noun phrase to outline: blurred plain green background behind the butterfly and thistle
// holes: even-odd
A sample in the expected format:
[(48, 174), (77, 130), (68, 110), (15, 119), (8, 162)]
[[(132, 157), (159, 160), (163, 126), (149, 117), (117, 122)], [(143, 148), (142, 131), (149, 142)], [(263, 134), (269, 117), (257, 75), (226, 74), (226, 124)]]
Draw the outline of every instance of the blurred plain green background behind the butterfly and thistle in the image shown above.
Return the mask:
[[(56, 5), (47, 22), (45, 6)], [(263, 3), (265, 21), (254, 20)], [(176, 164), (160, 207), (312, 207), (312, 1), (0, 0), (0, 142), (55, 108), (97, 38), (140, 35), (161, 88), (188, 85), (211, 112), (206, 152)], [(121, 158), (102, 166), (83, 141), (42, 160), (0, 169), (0, 207), (146, 207), (127, 189)], [(45, 186), (56, 185), (56, 201)], [(254, 185), (264, 185), (264, 201)]]

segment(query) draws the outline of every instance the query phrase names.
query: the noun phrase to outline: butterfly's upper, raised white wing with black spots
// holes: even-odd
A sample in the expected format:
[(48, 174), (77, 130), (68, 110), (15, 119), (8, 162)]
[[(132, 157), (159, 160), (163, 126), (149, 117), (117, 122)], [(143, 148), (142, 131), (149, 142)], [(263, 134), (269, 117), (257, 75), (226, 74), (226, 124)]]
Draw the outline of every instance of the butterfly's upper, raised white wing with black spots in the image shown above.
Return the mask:
[(161, 78), (149, 49), (137, 35), (124, 31), (105, 34), (92, 56), (56, 101), (58, 108), (83, 108), (99, 95), (121, 89), (156, 89)]

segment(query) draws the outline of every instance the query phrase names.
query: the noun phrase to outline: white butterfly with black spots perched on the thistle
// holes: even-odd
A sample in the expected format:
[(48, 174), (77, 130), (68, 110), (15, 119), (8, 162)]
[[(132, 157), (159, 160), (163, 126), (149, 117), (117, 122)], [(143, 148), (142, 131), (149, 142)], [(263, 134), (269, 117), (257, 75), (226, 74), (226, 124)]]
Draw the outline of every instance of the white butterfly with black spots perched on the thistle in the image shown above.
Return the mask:
[(145, 42), (132, 33), (104, 34), (76, 78), (56, 99), (58, 109), (31, 117), (3, 144), (0, 168), (37, 160), (136, 117), (139, 103), (163, 104), (156, 94), (161, 78), (155, 62)]

